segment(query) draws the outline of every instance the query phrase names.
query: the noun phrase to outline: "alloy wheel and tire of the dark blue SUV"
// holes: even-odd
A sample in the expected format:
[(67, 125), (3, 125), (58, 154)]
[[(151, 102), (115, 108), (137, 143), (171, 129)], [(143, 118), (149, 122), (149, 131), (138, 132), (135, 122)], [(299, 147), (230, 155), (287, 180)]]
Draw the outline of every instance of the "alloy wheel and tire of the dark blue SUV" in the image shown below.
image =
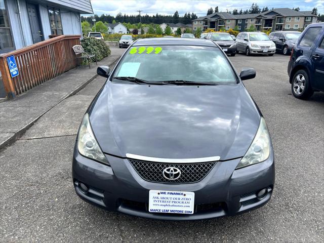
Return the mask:
[(292, 80), (292, 93), (293, 95), (302, 100), (307, 100), (314, 93), (310, 86), (309, 77), (305, 70), (297, 70)]

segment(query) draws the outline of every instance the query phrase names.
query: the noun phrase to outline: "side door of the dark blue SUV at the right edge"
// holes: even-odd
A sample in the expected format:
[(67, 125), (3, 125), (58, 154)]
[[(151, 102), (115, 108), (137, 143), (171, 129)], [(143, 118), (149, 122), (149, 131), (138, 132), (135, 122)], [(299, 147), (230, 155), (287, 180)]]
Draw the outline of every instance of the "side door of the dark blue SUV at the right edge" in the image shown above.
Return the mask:
[(315, 68), (315, 80), (312, 81), (312, 86), (324, 92), (324, 33), (314, 48), (311, 59)]

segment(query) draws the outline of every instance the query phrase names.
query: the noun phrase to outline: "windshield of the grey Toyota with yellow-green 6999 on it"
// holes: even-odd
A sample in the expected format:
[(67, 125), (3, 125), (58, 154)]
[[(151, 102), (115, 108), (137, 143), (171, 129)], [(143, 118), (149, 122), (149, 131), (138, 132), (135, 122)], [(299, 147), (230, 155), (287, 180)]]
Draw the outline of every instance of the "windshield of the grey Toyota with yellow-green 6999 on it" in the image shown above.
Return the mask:
[(135, 77), (146, 82), (169, 81), (171, 84), (183, 81), (213, 85), (237, 83), (233, 68), (222, 51), (206, 46), (133, 47), (118, 64), (113, 76)]

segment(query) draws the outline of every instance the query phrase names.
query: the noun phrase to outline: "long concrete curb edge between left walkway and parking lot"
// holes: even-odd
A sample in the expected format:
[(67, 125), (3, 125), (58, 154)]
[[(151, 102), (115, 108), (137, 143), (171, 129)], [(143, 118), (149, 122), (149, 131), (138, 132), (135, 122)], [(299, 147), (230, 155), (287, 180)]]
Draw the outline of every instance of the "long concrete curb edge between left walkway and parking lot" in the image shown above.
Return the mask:
[[(111, 64), (115, 63), (116, 61), (118, 61), (118, 59), (120, 58), (117, 57), (116, 59), (114, 59)], [(55, 105), (53, 105), (52, 107), (50, 107), (48, 110), (46, 110), (45, 112), (43, 112), (41, 115), (37, 116), (35, 119), (33, 119), (32, 121), (30, 121), (29, 124), (27, 124), (25, 127), (21, 128), (19, 131), (15, 132), (14, 135), (12, 135), (11, 137), (9, 137), (8, 139), (6, 139), (5, 141), (0, 143), (0, 150), (4, 149), (5, 147), (7, 147), (8, 145), (11, 145), (12, 143), (14, 143), (18, 138), (20, 138), (30, 127), (32, 127), (36, 121), (41, 118), (43, 115), (45, 115), (48, 111), (50, 111), (52, 108), (54, 108), (55, 106), (57, 106), (58, 104), (60, 104), (63, 100), (75, 95), (76, 93), (78, 93), (80, 90), (84, 89), (89, 83), (91, 83), (92, 80), (94, 80), (96, 77), (98, 76), (98, 74), (94, 74), (91, 78), (89, 78), (88, 80), (86, 80), (85, 83), (79, 85), (78, 87), (76, 87), (72, 92), (70, 92), (69, 94), (67, 94), (65, 97), (63, 97), (62, 100), (60, 100), (58, 103), (56, 103)], [(50, 81), (50, 80), (49, 80)]]

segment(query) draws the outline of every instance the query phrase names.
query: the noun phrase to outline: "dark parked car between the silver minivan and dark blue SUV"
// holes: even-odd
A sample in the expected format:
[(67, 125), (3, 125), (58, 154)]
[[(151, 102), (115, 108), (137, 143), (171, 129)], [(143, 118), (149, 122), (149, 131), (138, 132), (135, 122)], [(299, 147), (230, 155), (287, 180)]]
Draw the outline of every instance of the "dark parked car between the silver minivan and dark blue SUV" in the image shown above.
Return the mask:
[(299, 31), (271, 32), (269, 38), (274, 42), (276, 51), (289, 55), (301, 33)]

